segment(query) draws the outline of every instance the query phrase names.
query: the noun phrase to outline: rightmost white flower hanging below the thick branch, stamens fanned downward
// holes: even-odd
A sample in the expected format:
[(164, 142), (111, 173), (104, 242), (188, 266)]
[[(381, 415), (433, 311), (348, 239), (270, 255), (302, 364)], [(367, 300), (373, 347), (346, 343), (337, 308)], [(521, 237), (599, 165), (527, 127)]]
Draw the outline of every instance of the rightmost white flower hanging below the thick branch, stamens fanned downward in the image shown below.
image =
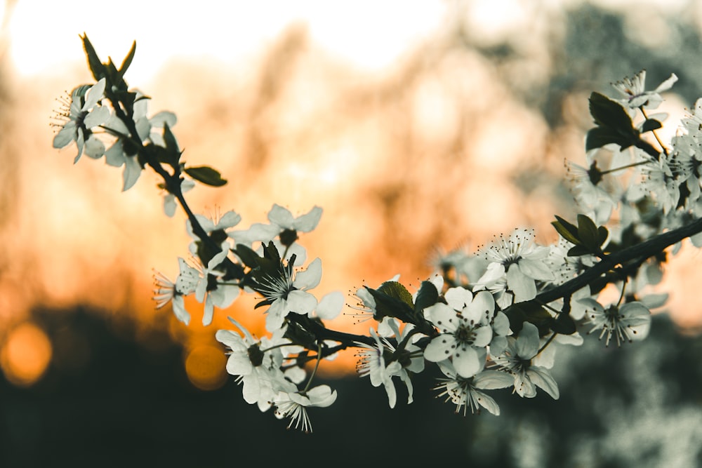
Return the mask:
[(609, 346), (612, 335), (616, 337), (617, 346), (621, 346), (623, 341), (643, 340), (649, 334), (651, 312), (641, 302), (627, 302), (621, 307), (610, 305), (607, 309), (592, 298), (581, 299), (579, 302), (587, 307), (588, 321), (592, 323), (592, 329), (588, 333), (602, 330), (600, 340), (607, 335), (605, 346)]

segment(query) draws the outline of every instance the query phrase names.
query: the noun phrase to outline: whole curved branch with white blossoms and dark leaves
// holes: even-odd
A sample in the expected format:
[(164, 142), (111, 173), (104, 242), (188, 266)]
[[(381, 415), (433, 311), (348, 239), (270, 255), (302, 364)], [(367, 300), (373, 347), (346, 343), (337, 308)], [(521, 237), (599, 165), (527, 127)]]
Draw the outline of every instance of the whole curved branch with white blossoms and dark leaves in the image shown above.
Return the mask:
[[(558, 399), (550, 373), (557, 350), (580, 345), (582, 325), (607, 346), (613, 337), (617, 345), (646, 337), (650, 309), (663, 305), (665, 295), (645, 286), (661, 280), (665, 249), (686, 237), (702, 244), (702, 100), (665, 146), (656, 134), (665, 115), (649, 112), (677, 77), (646, 91), (640, 72), (614, 83), (621, 99), (590, 96), (596, 127), (585, 142), (587, 163), (567, 163), (581, 211), (573, 221), (556, 217), (557, 242), (542, 245), (533, 230), (518, 227), (475, 253), (446, 253), (413, 293), (397, 276), (377, 288), (358, 288), (350, 307), (359, 312), (353, 315), (372, 320), (368, 335), (333, 330), (326, 322), (340, 315), (345, 297), (314, 293), (322, 260), (307, 262), (299, 243), (300, 234), (319, 224), (322, 208), (296, 216), (274, 204), (266, 223), (244, 229), (234, 210), (193, 213), (183, 194), (195, 182), (217, 186), (226, 180), (208, 166), (187, 166), (171, 131), (175, 114), (148, 116), (145, 95), (128, 90), (124, 73), (134, 49), (117, 69), (100, 62), (83, 40), (96, 82), (69, 94), (57, 114), (54, 147), (74, 142), (74, 162), (86, 154), (124, 166), (124, 190), (147, 167), (163, 178), (164, 211), (173, 215), (182, 206), (192, 242), (187, 258), (178, 258), (175, 281), (155, 274), (157, 307), (169, 305), (187, 325), (185, 297), (192, 295), (209, 325), (215, 309), (230, 307), (242, 293), (257, 295), (253, 313), (265, 317), (268, 335), (254, 337), (230, 319), (234, 330), (218, 330), (216, 339), (244, 400), (288, 417), (289, 427), (311, 430), (307, 409), (336, 400), (329, 385), (312, 382), (324, 359), (349, 348), (356, 349), (359, 375), (383, 387), (390, 407), (397, 403), (397, 380), (411, 403), (413, 376), (427, 368), (439, 375), (437, 396), (464, 415), (481, 408), (498, 415), (488, 394), (495, 389), (524, 398), (541, 389)], [(602, 295), (607, 287), (610, 294)], [(604, 299), (612, 291), (614, 300)]]

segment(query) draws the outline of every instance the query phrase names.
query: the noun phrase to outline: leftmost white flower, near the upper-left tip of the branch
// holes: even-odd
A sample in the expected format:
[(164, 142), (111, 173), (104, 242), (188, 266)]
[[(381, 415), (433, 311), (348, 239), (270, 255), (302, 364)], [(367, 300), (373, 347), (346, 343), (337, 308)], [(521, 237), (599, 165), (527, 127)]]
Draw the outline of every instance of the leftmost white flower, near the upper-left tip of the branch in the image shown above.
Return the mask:
[(104, 78), (93, 86), (79, 86), (72, 91), (70, 101), (63, 102), (67, 109), (57, 112), (56, 118), (65, 123), (53, 138), (53, 147), (63, 148), (76, 142), (78, 154), (73, 163), (78, 162), (84, 151), (91, 158), (99, 158), (105, 152), (105, 145), (92, 132), (110, 118), (110, 108), (98, 105), (104, 92)]

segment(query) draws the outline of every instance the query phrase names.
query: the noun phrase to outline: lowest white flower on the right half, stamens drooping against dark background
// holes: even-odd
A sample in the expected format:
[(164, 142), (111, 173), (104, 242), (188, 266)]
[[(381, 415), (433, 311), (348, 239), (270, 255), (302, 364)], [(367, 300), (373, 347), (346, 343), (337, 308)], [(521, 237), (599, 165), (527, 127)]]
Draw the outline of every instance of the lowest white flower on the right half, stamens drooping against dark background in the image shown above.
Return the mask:
[[(439, 385), (434, 387), (435, 390), (441, 391), (437, 397), (445, 395), (446, 400), (444, 401), (451, 401), (456, 405), (456, 413), (463, 413), (465, 416), (468, 408), (470, 408), (471, 413), (480, 413), (479, 406), (482, 406), (490, 413), (496, 416), (500, 415), (500, 407), (495, 400), (478, 389), (494, 388), (490, 384), (495, 379), (501, 382), (498, 384), (499, 388), (508, 387), (512, 380), (507, 374), (496, 370), (484, 370), (473, 377), (461, 377), (456, 373), (456, 369), (453, 368), (450, 361), (439, 363), (439, 368), (448, 378), (439, 379)], [(504, 381), (505, 376), (508, 377), (509, 381)]]

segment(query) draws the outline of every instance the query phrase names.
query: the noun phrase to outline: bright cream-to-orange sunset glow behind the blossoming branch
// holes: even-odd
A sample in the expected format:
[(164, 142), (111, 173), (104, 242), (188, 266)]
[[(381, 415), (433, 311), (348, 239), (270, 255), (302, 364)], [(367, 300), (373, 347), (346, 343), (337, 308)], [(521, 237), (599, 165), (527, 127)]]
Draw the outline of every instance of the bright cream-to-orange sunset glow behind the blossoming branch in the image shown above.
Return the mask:
[[(650, 11), (686, 5), (644, 3)], [(585, 114), (548, 140), (548, 123), (518, 87), (545, 86), (559, 68), (548, 41), (562, 34), (554, 23), (564, 8), (576, 4), (249, 1), (223, 9), (210, 0), (61, 1), (42, 2), (38, 15), (36, 2), (6, 2), (1, 119), (13, 138), (0, 148), (0, 178), (12, 181), (0, 226), (3, 369), (27, 385), (51, 360), (51, 337), (27, 321), (34, 307), (87, 305), (137, 319), (136, 340), (147, 340), (150, 327), (171, 330), (188, 350), (191, 376), (211, 369), (193, 377), (196, 385), (223, 378), (213, 330), (227, 326), (226, 314), (205, 329), (193, 312), (188, 328), (153, 307), (152, 269), (176, 276), (189, 241), (183, 215), (161, 212), (157, 178), (145, 173), (121, 193), (121, 170), (87, 158), (73, 166), (74, 149), (51, 147), (55, 98), (91, 79), (79, 34), (115, 62), (136, 40), (128, 83), (150, 95), (150, 112), (178, 115), (187, 161), (210, 163), (230, 180), (195, 189), (195, 210), (237, 210), (244, 227), (263, 222), (273, 203), (296, 214), (322, 206), (317, 231), (302, 241), (324, 262), (319, 294), (341, 290), (352, 303), (355, 288), (397, 273), (416, 286), (437, 248), (475, 250), (518, 225), (534, 225), (542, 242), (555, 239), (550, 220), (569, 203), (556, 192), (562, 161), (583, 158), (587, 94), (578, 90), (572, 101), (574, 113)], [(617, 4), (626, 11), (633, 3)], [(651, 34), (665, 26), (641, 20)], [(529, 60), (501, 67), (457, 46), (459, 30), (484, 48), (518, 36), (515, 48)], [(522, 168), (544, 177), (526, 195), (514, 183)], [(692, 288), (697, 262), (691, 255), (671, 266), (668, 284)], [(251, 304), (227, 313), (245, 314)], [(698, 308), (682, 304), (684, 296), (672, 298), (681, 323), (702, 321)], [(244, 317), (263, 331), (260, 316)], [(368, 327), (348, 316), (334, 323)], [(341, 361), (353, 369), (353, 356)]]

